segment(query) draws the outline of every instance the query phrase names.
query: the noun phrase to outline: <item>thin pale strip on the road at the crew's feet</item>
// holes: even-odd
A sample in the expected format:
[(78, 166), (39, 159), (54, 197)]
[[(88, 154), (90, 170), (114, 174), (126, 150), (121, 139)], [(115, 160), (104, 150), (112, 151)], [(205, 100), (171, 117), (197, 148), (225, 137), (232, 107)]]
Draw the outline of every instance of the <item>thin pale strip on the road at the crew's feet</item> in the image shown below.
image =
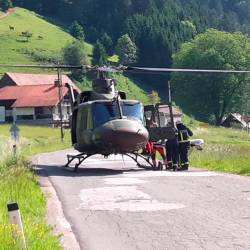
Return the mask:
[(147, 178), (147, 177), (214, 177), (220, 176), (221, 174), (209, 171), (201, 172), (171, 172), (171, 171), (147, 171), (140, 173), (123, 173), (123, 176), (126, 178)]

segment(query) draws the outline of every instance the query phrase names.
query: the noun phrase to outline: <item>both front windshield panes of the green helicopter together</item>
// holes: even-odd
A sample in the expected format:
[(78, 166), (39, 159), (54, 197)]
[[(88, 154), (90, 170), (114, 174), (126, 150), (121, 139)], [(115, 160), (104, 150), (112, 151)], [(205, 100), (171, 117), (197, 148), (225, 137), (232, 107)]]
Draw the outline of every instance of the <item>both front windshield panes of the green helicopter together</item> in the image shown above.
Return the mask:
[[(120, 105), (124, 118), (135, 119), (143, 123), (143, 106), (141, 103), (120, 102)], [(95, 127), (99, 127), (110, 120), (119, 119), (118, 104), (116, 102), (95, 103), (93, 118)]]

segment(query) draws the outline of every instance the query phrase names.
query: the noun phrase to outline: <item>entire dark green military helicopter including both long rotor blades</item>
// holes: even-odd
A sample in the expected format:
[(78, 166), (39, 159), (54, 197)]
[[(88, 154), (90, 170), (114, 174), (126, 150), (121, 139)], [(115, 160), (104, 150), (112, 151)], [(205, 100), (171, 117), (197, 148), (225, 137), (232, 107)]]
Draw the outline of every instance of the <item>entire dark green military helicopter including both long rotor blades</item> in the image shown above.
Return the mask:
[[(98, 77), (93, 81), (93, 90), (84, 91), (77, 99), (72, 96), (71, 139), (77, 155), (67, 155), (68, 168), (70, 163), (78, 160), (74, 171), (79, 165), (95, 154), (108, 157), (110, 154), (122, 154), (132, 158), (139, 167), (138, 158), (146, 160), (140, 150), (144, 148), (152, 131), (156, 138), (171, 138), (174, 136), (174, 124), (155, 128), (148, 131), (145, 128), (143, 105), (137, 100), (127, 100), (126, 93), (116, 90), (116, 81), (105, 77), (104, 72), (132, 72), (132, 73), (250, 73), (240, 70), (206, 70), (206, 69), (171, 69), (171, 68), (143, 68), (143, 67), (98, 67), (98, 66), (68, 66), (68, 65), (3, 65), (0, 67), (32, 67), (57, 69), (58, 78), (62, 69), (94, 70)], [(60, 84), (59, 84), (60, 87)], [(168, 104), (171, 113), (171, 101)]]

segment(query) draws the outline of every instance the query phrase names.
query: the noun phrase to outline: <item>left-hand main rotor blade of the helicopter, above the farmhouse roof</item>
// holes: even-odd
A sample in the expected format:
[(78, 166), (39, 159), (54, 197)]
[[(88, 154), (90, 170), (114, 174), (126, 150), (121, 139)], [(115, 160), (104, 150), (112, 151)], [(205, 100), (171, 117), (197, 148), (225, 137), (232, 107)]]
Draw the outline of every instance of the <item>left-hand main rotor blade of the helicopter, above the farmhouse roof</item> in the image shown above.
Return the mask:
[(71, 65), (57, 65), (57, 64), (48, 64), (48, 65), (36, 65), (36, 64), (0, 64), (0, 68), (44, 68), (44, 69), (83, 69), (87, 66), (71, 66)]

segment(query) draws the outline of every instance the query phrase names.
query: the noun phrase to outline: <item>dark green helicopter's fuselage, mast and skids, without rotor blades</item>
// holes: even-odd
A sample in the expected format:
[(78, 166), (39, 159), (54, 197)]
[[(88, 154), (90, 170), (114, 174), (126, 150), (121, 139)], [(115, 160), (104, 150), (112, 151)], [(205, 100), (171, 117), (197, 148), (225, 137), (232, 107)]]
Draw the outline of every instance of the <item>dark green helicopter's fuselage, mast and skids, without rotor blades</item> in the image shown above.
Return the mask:
[(126, 93), (116, 90), (116, 81), (104, 72), (93, 81), (92, 91), (82, 92), (73, 105), (71, 139), (79, 155), (68, 155), (69, 164), (78, 166), (94, 154), (136, 154), (144, 148), (149, 134), (144, 126), (143, 104), (127, 100)]

